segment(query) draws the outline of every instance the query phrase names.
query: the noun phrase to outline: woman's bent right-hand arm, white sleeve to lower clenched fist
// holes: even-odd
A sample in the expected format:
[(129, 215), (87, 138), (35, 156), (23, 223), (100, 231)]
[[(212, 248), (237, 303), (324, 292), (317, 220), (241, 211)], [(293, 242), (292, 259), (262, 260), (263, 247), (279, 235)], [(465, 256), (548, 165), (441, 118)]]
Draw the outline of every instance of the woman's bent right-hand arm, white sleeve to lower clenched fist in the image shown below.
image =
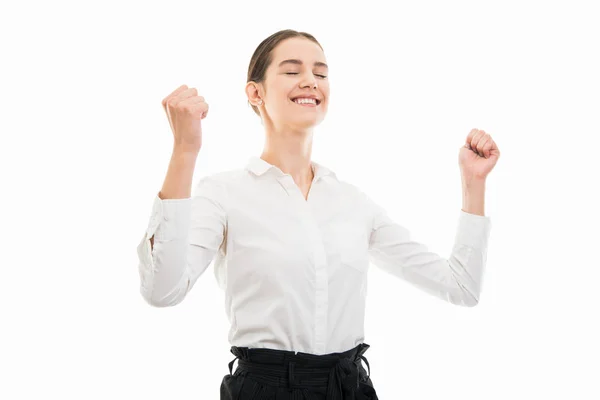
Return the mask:
[(459, 148), (463, 208), (449, 258), (412, 240), (408, 229), (392, 221), (385, 210), (368, 199), (373, 221), (373, 263), (452, 304), (477, 305), (491, 230), (491, 220), (484, 214), (485, 180), (499, 157), (496, 142), (479, 129), (472, 129)]

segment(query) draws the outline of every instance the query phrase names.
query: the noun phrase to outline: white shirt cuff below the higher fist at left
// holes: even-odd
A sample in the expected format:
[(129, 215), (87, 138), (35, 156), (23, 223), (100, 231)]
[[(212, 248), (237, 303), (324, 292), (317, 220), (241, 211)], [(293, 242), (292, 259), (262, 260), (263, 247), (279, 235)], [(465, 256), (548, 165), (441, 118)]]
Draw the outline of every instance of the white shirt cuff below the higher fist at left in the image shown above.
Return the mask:
[(152, 204), (152, 215), (146, 238), (154, 235), (154, 241), (165, 242), (185, 237), (190, 229), (192, 199), (161, 199), (158, 193)]

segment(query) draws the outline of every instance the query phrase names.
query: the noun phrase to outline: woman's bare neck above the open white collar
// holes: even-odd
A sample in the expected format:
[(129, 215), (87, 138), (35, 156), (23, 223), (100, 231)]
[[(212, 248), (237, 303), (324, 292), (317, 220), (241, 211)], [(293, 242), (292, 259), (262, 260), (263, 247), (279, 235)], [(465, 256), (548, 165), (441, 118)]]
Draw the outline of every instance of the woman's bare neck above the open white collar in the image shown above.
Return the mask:
[(308, 184), (314, 177), (311, 167), (312, 138), (312, 129), (267, 129), (260, 158), (291, 175), (297, 184)]

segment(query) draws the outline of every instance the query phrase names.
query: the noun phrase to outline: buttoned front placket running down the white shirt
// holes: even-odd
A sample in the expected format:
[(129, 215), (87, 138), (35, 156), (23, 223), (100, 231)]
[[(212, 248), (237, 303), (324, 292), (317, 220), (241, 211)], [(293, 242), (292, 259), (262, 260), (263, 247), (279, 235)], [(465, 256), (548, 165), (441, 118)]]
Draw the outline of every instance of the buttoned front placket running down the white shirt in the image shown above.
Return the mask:
[(327, 254), (319, 229), (319, 224), (311, 209), (311, 199), (315, 197), (315, 181), (313, 181), (308, 201), (304, 199), (302, 191), (296, 185), (291, 176), (286, 175), (282, 178), (283, 186), (288, 195), (296, 204), (296, 209), (301, 213), (300, 219), (307, 233), (314, 260), (315, 270), (315, 310), (314, 310), (314, 340), (313, 351), (316, 354), (326, 352), (327, 346), (327, 319), (328, 319), (328, 298), (329, 298), (329, 274), (327, 271)]

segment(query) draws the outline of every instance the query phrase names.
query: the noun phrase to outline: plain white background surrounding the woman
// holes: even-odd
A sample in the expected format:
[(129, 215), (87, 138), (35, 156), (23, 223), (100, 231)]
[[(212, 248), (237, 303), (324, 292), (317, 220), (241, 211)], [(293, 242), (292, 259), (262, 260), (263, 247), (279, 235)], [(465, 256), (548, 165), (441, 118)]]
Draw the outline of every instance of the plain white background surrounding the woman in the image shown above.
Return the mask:
[(600, 398), (600, 14), (412, 3), (2, 5), (0, 398), (218, 399), (234, 356), (212, 267), (176, 307), (139, 293), (135, 248), (172, 146), (161, 100), (187, 84), (210, 105), (195, 182), (243, 167), (264, 139), (248, 63), (286, 28), (330, 65), (313, 159), (431, 249), (452, 248), (468, 132), (501, 151), (477, 307), (370, 269), (379, 397)]

